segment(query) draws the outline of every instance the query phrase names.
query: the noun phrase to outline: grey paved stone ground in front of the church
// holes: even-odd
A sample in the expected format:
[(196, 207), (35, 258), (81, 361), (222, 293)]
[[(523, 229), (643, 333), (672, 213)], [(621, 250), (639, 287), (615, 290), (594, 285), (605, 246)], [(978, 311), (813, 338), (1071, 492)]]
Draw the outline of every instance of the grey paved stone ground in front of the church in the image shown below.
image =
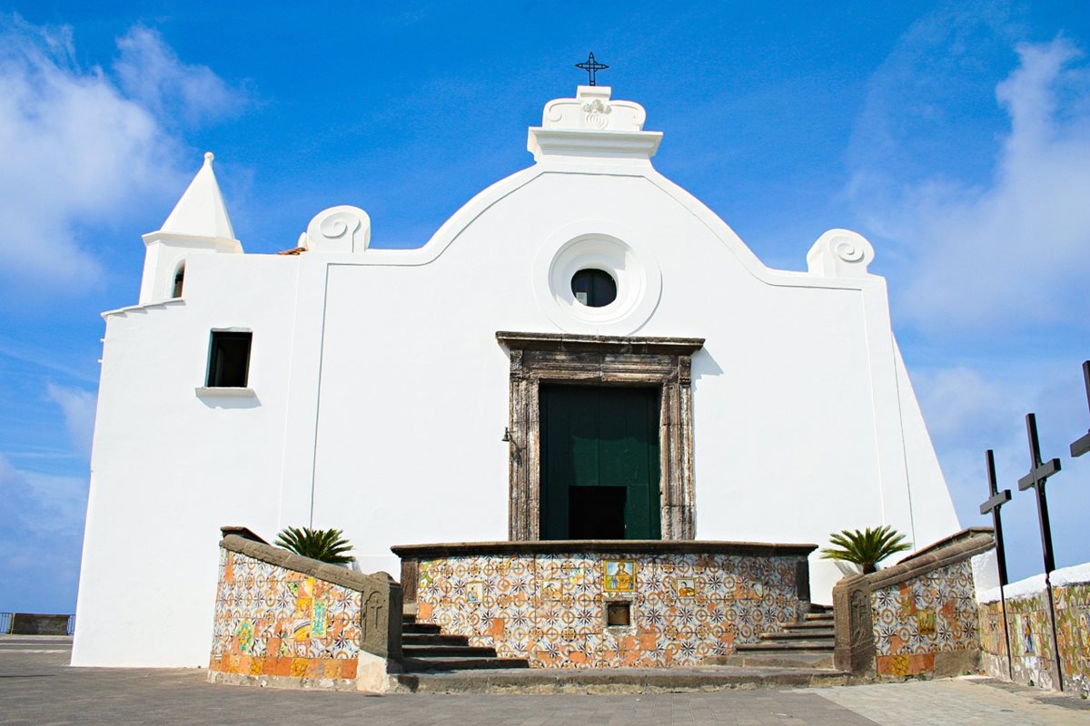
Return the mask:
[(1083, 702), (988, 680), (629, 696), (365, 696), (211, 686), (204, 670), (70, 668), (70, 639), (0, 636), (0, 724), (1090, 726)]

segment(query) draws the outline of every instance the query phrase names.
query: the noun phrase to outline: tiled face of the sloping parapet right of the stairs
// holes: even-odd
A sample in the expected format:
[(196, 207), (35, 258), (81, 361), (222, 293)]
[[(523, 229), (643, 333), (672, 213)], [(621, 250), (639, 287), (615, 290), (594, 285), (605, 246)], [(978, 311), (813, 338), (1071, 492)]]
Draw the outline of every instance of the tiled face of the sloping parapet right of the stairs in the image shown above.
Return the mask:
[(871, 593), (880, 675), (934, 670), (934, 654), (977, 648), (978, 623), (969, 559)]

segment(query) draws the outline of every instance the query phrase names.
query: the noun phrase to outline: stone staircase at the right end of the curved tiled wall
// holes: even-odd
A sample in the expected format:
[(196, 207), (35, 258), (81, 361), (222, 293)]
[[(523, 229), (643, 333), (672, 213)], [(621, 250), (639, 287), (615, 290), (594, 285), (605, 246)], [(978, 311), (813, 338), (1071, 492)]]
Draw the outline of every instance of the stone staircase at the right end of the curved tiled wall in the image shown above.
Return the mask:
[(801, 623), (777, 632), (764, 632), (761, 642), (739, 645), (732, 655), (710, 661), (715, 665), (778, 668), (832, 668), (833, 608), (811, 605)]

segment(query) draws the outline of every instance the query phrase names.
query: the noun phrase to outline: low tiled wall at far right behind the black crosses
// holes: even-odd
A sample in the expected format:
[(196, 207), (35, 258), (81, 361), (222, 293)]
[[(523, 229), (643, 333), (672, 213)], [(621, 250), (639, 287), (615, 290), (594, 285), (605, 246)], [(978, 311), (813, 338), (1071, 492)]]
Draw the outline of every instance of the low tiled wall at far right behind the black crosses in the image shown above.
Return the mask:
[[(1090, 696), (1090, 583), (1053, 588), (1056, 605), (1056, 640), (1064, 688)], [(1052, 629), (1044, 592), (1009, 598), (1007, 624), (1014, 679), (1043, 688), (1055, 688), (1051, 662)], [(1007, 651), (998, 601), (980, 605), (983, 666), (998, 678), (1007, 678)]]

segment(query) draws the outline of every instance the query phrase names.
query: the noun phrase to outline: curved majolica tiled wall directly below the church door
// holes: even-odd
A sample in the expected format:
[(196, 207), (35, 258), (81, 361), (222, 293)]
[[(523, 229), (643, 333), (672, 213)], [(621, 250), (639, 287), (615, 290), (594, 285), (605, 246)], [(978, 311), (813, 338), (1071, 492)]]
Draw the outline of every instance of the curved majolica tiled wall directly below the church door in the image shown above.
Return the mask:
[[(699, 665), (799, 615), (804, 557), (484, 554), (422, 559), (417, 619), (533, 667)], [(628, 603), (629, 626), (606, 623)]]

